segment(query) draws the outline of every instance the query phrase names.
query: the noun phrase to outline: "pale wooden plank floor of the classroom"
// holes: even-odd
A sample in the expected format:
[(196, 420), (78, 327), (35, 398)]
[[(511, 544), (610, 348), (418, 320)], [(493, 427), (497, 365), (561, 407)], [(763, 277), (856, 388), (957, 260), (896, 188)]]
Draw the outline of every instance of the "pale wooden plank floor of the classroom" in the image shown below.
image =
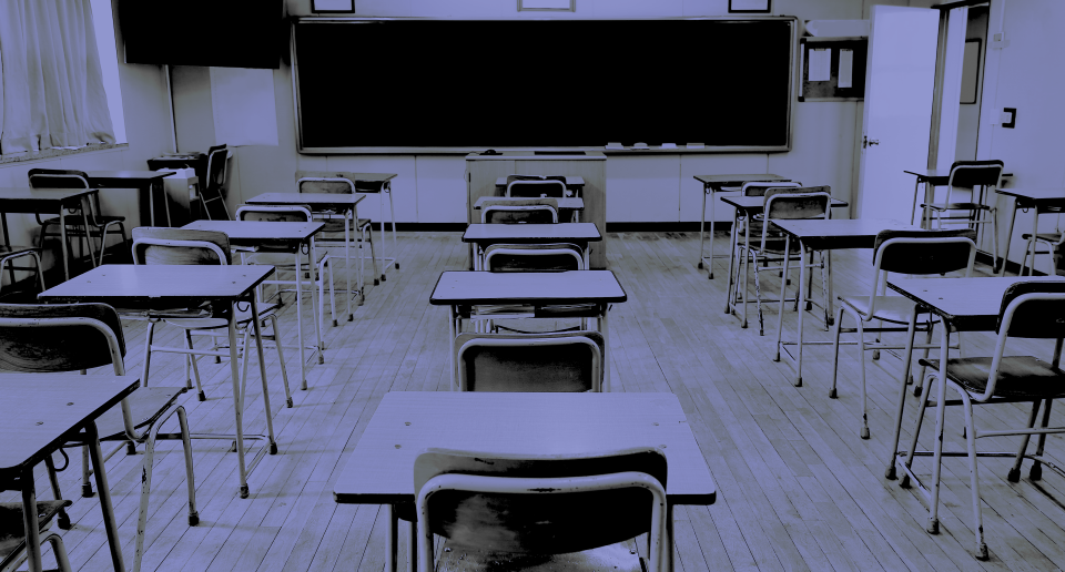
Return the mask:
[[(629, 295), (610, 315), (612, 388), (676, 394), (719, 490), (711, 507), (677, 510), (678, 571), (1065, 568), (1065, 508), (1054, 500), (1065, 500), (1065, 480), (1053, 471), (1032, 482), (1025, 469), (1020, 483), (1010, 483), (1007, 460), (981, 461), (991, 560), (977, 562), (971, 554), (966, 460), (947, 459), (942, 531), (926, 533), (926, 511), (915, 489), (884, 479), (900, 361), (886, 354), (879, 361), (868, 360), (872, 439), (862, 440), (854, 348), (843, 350), (839, 399), (828, 398), (830, 348), (808, 350), (804, 385), (793, 387), (790, 367), (772, 360), (775, 307), (765, 315), (767, 336), (759, 337), (755, 328), (741, 329), (722, 311), (724, 263), (718, 263), (713, 280), (696, 267), (698, 238), (683, 233), (608, 235), (610, 268)], [(726, 241), (717, 244), (723, 252)], [(400, 233), (399, 249), (402, 268), (390, 269), (387, 282), (368, 288), (354, 323), (326, 328), (325, 364), (310, 368), (308, 390), (298, 389), (295, 351), (286, 354), (295, 399), (291, 409), (284, 407), (276, 356), (267, 353), (281, 450), (270, 456), (261, 443), (250, 446), (251, 498), (237, 496), (235, 454), (226, 452), (230, 442), (195, 441), (201, 522), (190, 528), (180, 445), (160, 445), (144, 570), (382, 570), (384, 512), (376, 505), (337, 505), (333, 483), (385, 392), (447, 390), (447, 310), (429, 306), (428, 298), (440, 272), (463, 269), (466, 255), (458, 233)], [(836, 294), (868, 292), (870, 258), (869, 251), (834, 255)], [(777, 292), (779, 280), (768, 282), (763, 288)], [(284, 318), (282, 326), (293, 336), (293, 306)], [(785, 324), (794, 318), (789, 311)], [(812, 338), (828, 339), (816, 327), (819, 320), (807, 324)], [(125, 327), (126, 367), (139, 371), (144, 327), (132, 321)], [(174, 337), (173, 329), (163, 327), (156, 343)], [(986, 335), (964, 339), (965, 355), (990, 355), (992, 348)], [(1048, 346), (1018, 344), (1011, 349), (1049, 356)], [(201, 364), (209, 399), (185, 397), (193, 430), (232, 430), (227, 364), (215, 365), (211, 358)], [(253, 384), (256, 377), (252, 375)], [(151, 384), (183, 385), (180, 357), (153, 357)], [(915, 402), (909, 397), (905, 437)], [(254, 386), (248, 387), (246, 409), (248, 430), (263, 431), (261, 390)], [(1061, 408), (1057, 411), (1059, 418)], [(1023, 422), (1025, 413), (1020, 407), (1000, 406), (976, 416), (978, 423), (1000, 427)], [(960, 410), (949, 411), (945, 439), (951, 449), (964, 449), (961, 420)], [(1013, 450), (1015, 439), (981, 440), (977, 446)], [(1051, 437), (1047, 450), (1062, 458), (1062, 439)], [(74, 450), (72, 467), (80, 466), (79, 457)], [(120, 452), (108, 464), (128, 563), (141, 459)], [(78, 472), (61, 474), (68, 496), (79, 491)], [(919, 472), (931, 472), (927, 460)], [(42, 470), (38, 490), (48, 490)], [(4, 492), (0, 499), (17, 497)], [(63, 539), (75, 569), (109, 570), (95, 500), (77, 499), (71, 517), (74, 528), (63, 532)]]

